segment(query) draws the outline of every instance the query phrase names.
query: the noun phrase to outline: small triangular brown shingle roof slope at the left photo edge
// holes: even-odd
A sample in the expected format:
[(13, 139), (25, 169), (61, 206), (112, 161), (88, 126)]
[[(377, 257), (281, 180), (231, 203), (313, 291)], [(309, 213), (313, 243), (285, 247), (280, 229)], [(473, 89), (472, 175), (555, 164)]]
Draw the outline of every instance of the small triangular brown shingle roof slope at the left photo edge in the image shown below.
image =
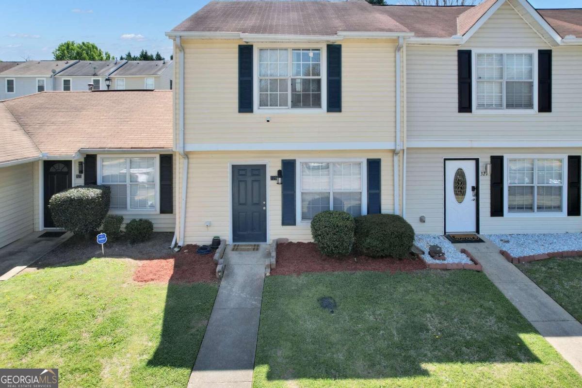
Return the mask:
[(0, 163), (35, 158), (40, 150), (12, 113), (0, 103)]

